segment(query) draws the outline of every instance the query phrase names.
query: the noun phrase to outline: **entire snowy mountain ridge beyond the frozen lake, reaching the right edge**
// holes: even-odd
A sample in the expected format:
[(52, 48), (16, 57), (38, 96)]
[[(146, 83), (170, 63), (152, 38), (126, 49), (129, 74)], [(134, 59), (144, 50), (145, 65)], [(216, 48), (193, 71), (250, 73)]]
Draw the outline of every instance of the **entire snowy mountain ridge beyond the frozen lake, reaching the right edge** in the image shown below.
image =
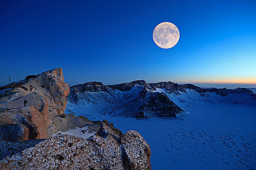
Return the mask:
[(120, 85), (75, 85), (70, 87), (67, 101), (66, 112), (75, 115), (152, 118), (185, 115), (189, 113), (187, 107), (202, 102), (256, 105), (256, 94), (246, 88), (200, 88), (172, 82), (147, 84), (141, 80)]

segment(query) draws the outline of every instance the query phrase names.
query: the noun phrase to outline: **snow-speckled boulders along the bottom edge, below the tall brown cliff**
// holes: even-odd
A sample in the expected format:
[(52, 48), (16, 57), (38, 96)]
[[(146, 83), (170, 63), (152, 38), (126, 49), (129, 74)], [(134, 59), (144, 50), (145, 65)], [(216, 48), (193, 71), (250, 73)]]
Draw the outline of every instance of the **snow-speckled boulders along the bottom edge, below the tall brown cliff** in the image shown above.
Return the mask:
[(81, 133), (58, 134), (0, 161), (1, 170), (150, 170), (150, 147), (136, 131), (124, 135), (100, 121)]

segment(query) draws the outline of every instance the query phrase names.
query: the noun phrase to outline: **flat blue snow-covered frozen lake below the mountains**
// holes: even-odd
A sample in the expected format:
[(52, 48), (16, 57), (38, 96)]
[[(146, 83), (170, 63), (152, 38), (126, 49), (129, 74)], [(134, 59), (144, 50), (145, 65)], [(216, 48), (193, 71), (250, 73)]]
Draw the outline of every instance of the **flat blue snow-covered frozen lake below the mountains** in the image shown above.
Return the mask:
[(255, 105), (203, 102), (186, 110), (177, 119), (83, 115), (138, 131), (151, 148), (152, 170), (256, 169)]

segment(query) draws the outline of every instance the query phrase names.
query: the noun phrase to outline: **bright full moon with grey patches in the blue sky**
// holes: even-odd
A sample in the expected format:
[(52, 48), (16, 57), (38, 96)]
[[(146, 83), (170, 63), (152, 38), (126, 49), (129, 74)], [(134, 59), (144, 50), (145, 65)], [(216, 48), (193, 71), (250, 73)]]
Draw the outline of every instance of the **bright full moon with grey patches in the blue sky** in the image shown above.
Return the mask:
[(153, 32), (153, 39), (158, 47), (170, 49), (175, 46), (180, 38), (178, 28), (171, 22), (158, 24)]

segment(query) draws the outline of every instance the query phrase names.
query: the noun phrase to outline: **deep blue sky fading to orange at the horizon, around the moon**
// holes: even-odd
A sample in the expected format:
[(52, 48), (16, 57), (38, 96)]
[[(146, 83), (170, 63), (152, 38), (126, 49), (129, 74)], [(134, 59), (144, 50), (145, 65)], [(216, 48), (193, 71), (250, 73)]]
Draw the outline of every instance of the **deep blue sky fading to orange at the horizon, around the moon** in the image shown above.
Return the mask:
[[(161, 49), (161, 22), (180, 39)], [(256, 0), (5, 0), (0, 85), (62, 67), (69, 85), (256, 83)]]

